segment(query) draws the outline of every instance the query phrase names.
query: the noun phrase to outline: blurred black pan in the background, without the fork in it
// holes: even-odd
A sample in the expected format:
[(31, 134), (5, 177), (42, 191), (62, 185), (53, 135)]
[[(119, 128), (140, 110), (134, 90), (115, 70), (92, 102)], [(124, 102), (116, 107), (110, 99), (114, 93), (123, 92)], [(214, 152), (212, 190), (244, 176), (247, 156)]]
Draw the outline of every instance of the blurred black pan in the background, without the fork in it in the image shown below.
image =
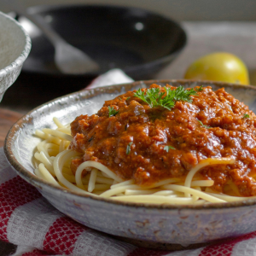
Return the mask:
[[(183, 28), (173, 20), (143, 9), (99, 6), (37, 6), (40, 15), (69, 44), (84, 50), (100, 65), (92, 79), (119, 67), (132, 79), (150, 79), (175, 59), (186, 44)], [(54, 47), (29, 20), (19, 18), (32, 38), (33, 49), (23, 72), (70, 76), (55, 66)], [(84, 76), (84, 75), (83, 75)]]

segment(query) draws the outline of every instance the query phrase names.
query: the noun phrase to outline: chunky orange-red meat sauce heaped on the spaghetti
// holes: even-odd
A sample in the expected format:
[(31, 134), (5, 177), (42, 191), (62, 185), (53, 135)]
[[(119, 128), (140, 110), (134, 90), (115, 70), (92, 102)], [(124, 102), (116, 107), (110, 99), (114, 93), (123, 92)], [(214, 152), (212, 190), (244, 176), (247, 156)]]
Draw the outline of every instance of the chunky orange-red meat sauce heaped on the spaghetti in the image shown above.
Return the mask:
[[(151, 88), (165, 92), (157, 84)], [(214, 92), (204, 87), (191, 96), (192, 102), (175, 102), (171, 110), (150, 108), (134, 96), (135, 91), (73, 121), (70, 148), (83, 154), (73, 160), (73, 172), (81, 162), (94, 160), (124, 180), (149, 185), (185, 177), (201, 160), (232, 157), (235, 164), (207, 166), (200, 171), (201, 177), (212, 179), (213, 189), (219, 192), (232, 182), (240, 195), (256, 195), (256, 116), (245, 104), (224, 89)], [(118, 113), (109, 117), (108, 107)], [(172, 148), (166, 150), (166, 146)]]

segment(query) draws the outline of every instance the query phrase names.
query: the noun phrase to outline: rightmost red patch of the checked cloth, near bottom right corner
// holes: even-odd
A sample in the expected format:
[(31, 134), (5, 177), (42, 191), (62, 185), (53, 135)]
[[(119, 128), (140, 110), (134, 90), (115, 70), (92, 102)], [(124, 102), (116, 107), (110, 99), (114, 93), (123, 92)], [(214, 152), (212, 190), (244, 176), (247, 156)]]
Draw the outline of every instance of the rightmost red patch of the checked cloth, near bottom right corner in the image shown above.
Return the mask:
[(252, 239), (255, 237), (256, 237), (256, 231), (249, 233), (247, 235), (244, 235), (244, 236), (239, 236), (236, 238), (229, 238), (225, 241), (218, 242), (217, 244), (204, 247), (201, 250), (201, 253), (199, 254), (199, 256), (212, 256), (212, 255), (230, 256), (236, 243), (238, 243), (240, 241)]

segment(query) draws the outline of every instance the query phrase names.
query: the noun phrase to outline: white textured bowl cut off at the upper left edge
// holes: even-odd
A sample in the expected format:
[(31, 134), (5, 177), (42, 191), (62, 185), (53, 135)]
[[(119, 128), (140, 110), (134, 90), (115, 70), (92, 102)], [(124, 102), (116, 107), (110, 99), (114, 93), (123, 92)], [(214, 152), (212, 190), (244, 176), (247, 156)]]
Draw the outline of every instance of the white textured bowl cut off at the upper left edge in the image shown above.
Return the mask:
[(31, 39), (23, 27), (0, 12), (0, 102), (14, 84), (31, 49)]

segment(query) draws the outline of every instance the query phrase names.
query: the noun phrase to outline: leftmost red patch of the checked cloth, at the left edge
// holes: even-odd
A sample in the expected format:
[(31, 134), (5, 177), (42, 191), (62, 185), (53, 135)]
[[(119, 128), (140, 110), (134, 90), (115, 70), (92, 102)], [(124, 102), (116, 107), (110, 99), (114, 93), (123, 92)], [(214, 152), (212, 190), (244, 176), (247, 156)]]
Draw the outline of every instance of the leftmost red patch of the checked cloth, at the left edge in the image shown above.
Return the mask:
[(21, 177), (14, 177), (0, 185), (0, 239), (7, 239), (7, 225), (16, 207), (38, 199), (42, 195)]

